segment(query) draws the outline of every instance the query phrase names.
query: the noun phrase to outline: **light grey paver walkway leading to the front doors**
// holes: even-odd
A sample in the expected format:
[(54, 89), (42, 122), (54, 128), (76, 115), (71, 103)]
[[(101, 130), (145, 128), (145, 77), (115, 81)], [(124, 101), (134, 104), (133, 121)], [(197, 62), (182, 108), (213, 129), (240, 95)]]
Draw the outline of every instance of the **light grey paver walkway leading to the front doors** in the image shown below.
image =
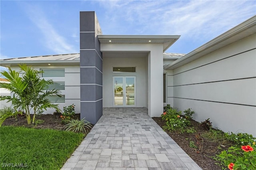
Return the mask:
[(147, 108), (103, 108), (61, 170), (201, 170), (148, 116)]

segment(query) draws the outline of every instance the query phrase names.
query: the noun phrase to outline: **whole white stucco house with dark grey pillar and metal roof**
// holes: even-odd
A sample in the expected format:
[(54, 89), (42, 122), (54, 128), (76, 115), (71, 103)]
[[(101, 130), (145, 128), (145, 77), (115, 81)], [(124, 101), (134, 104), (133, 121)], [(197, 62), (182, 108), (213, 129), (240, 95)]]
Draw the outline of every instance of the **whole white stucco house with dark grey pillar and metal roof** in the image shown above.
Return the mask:
[(42, 78), (63, 95), (51, 100), (60, 108), (74, 103), (93, 124), (103, 107), (147, 107), (150, 117), (159, 117), (170, 104), (192, 108), (196, 121), (210, 118), (225, 132), (256, 136), (256, 16), (186, 55), (165, 53), (179, 37), (103, 35), (95, 12), (80, 12), (80, 53), (0, 65), (43, 70)]

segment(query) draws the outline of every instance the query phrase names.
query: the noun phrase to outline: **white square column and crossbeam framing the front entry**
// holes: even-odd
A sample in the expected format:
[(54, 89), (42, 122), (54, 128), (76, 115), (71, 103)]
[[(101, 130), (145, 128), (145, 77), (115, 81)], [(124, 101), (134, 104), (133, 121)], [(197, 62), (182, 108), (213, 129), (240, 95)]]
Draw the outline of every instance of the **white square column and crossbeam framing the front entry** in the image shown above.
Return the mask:
[(145, 75), (148, 77), (148, 93), (146, 93), (148, 95), (148, 115), (159, 117), (163, 111), (163, 44), (101, 43), (100, 50), (102, 52), (148, 52), (148, 74)]

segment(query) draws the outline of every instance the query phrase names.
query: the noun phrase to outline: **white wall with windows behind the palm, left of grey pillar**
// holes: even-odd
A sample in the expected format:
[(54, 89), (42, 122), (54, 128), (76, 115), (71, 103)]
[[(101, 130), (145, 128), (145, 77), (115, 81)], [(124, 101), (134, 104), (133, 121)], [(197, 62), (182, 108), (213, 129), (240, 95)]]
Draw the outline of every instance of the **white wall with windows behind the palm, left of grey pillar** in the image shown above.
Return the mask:
[[(64, 81), (65, 90), (60, 91), (65, 95), (65, 103), (56, 103), (60, 110), (63, 111), (64, 106), (76, 105), (76, 113), (80, 113), (80, 65), (32, 65), (36, 70), (40, 69), (65, 69), (65, 77), (43, 77), (44, 79), (52, 79), (53, 81)], [(12, 66), (12, 70), (19, 71), (18, 66)], [(43, 114), (52, 114), (54, 109), (47, 109)], [(33, 111), (31, 110), (33, 114)]]

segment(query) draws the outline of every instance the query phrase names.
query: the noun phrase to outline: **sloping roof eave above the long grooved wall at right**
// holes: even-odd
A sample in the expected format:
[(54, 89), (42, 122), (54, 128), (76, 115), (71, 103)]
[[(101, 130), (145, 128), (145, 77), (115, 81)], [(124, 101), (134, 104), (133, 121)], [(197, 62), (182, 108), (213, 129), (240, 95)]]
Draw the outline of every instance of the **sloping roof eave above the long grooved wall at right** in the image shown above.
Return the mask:
[[(242, 22), (238, 26), (236, 26), (236, 27), (228, 30), (227, 32), (221, 34), (220, 36), (214, 38), (210, 42), (207, 42), (204, 45), (198, 47), (197, 49), (191, 51), (190, 53), (184, 55), (184, 57), (181, 57), (180, 59), (177, 59), (176, 61), (170, 63), (169, 65), (166, 65), (164, 67), (164, 69), (176, 69), (177, 67), (180, 67), (181, 65), (184, 65), (184, 64), (190, 62), (190, 61), (186, 62), (186, 60), (190, 57), (197, 55), (196, 57), (193, 58), (193, 60), (195, 60), (195, 59), (198, 59), (199, 57), (202, 57), (203, 55), (211, 53), (216, 50), (216, 49), (214, 49), (215, 45), (217, 45), (220, 42), (228, 40), (232, 36), (236, 36), (236, 35), (242, 33), (244, 30), (252, 29), (252, 30), (254, 30), (254, 33), (251, 33), (250, 35), (255, 34), (256, 29), (253, 28), (255, 25), (256, 25), (256, 16), (253, 16), (253, 17), (249, 18), (248, 20)], [(244, 35), (243, 38), (250, 36), (250, 35)], [(242, 39), (242, 38), (240, 38), (240, 39)], [(231, 43), (234, 43), (236, 41), (238, 41), (238, 40), (230, 41), (228, 44), (218, 47), (218, 49), (220, 49), (226, 45), (229, 45)], [(212, 50), (209, 50), (207, 53), (203, 53), (202, 55), (200, 55), (200, 53), (202, 53), (202, 51), (204, 51), (206, 49), (210, 49), (210, 48), (212, 48)], [(191, 60), (191, 61), (193, 61), (193, 60)]]

